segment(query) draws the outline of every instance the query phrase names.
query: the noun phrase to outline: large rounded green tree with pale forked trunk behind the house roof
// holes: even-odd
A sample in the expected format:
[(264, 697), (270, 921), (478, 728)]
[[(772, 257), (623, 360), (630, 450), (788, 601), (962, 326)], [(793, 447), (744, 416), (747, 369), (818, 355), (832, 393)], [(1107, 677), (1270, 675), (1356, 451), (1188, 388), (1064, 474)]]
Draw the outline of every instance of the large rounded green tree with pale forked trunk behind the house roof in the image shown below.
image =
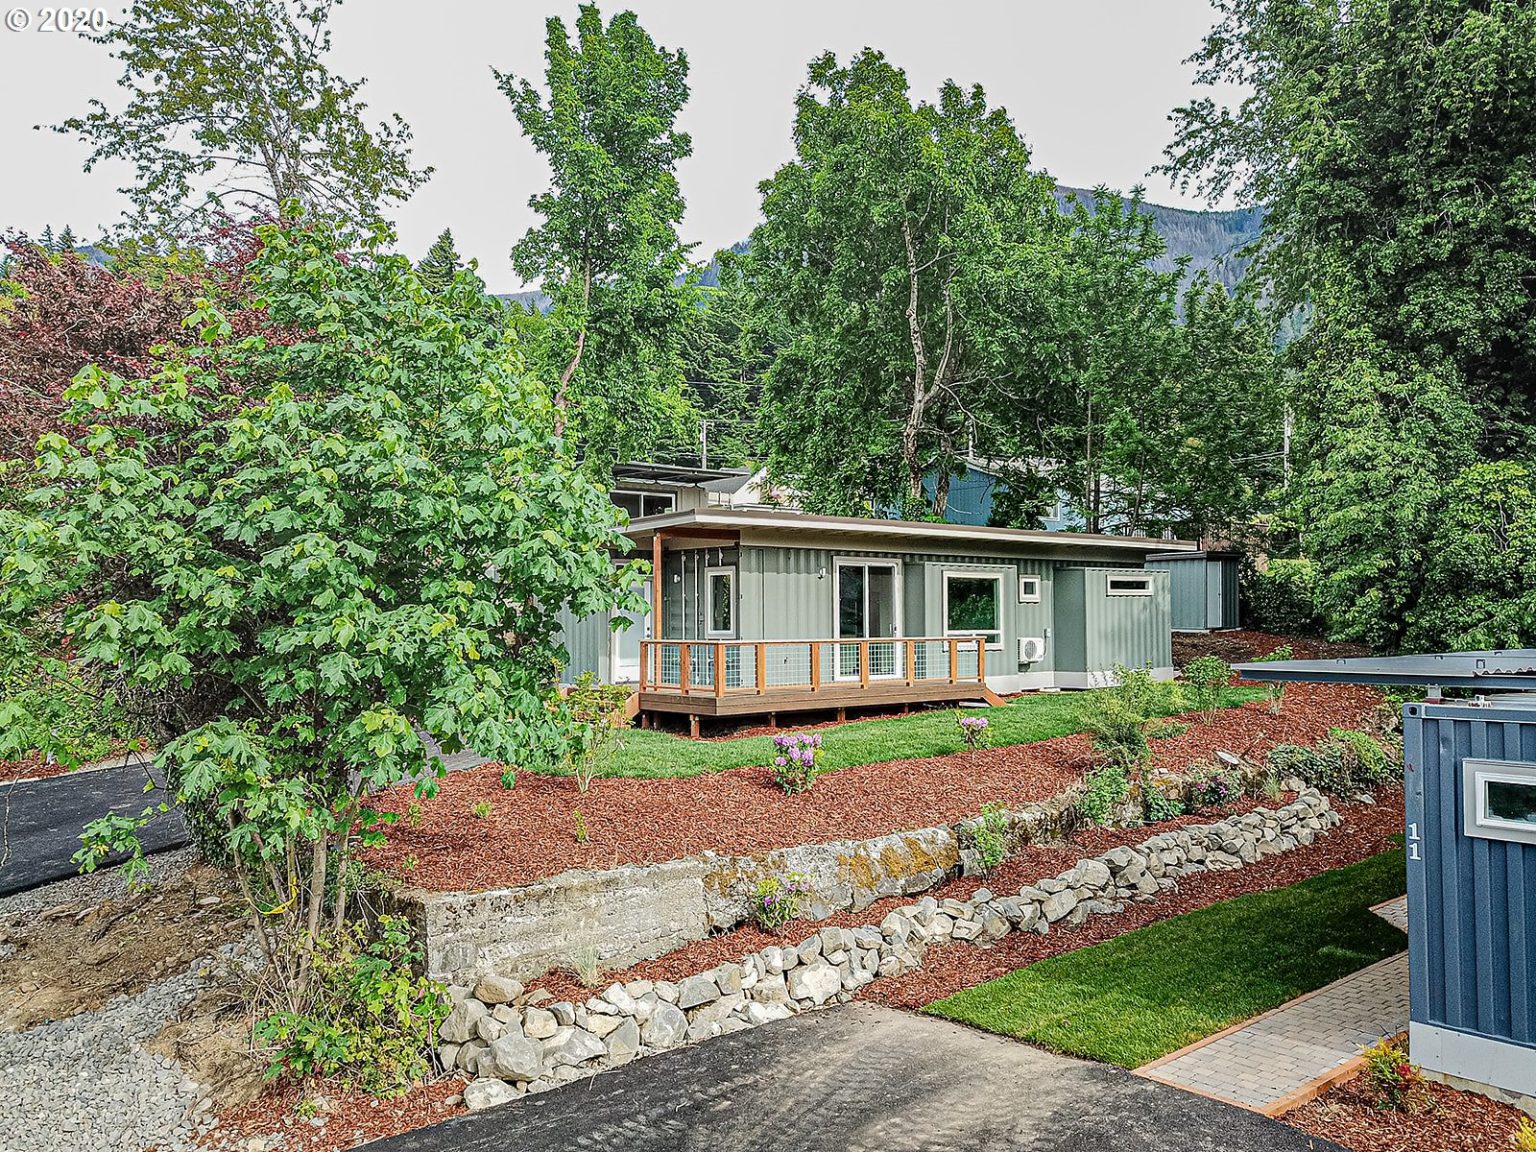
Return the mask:
[(1058, 226), (1051, 181), (978, 86), (914, 103), (872, 49), (811, 63), (794, 143), (762, 184), (745, 264), (779, 329), (770, 467), (825, 510), (943, 515), (988, 398), (1037, 379), (1021, 353), (1038, 347), (1026, 333)]

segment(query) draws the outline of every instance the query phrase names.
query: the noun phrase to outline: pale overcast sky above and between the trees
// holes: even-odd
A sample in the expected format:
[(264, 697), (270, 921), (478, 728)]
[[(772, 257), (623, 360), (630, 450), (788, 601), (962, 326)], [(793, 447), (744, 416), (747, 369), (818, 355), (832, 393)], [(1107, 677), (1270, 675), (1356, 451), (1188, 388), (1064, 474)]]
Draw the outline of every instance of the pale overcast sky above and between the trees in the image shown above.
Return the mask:
[[(9, 6), (14, 0), (6, 0)], [(945, 78), (980, 83), (1014, 117), (1037, 166), (1063, 184), (1147, 186), (1147, 200), (1200, 207), (1147, 170), (1169, 140), (1167, 112), (1192, 92), (1183, 63), (1212, 23), (1207, 0), (633, 0), (657, 43), (684, 48), (693, 95), (682, 127), (694, 154), (680, 180), (684, 240), (707, 255), (746, 237), (757, 181), (791, 155), (796, 89), (825, 49), (879, 48), (931, 97)], [(111, 5), (121, 11), (121, 5)], [(605, 12), (619, 11), (605, 5)], [(392, 214), (419, 257), (452, 227), (492, 290), (521, 287), (508, 249), (533, 221), (547, 170), (522, 140), (492, 66), (542, 77), (544, 18), (556, 0), (350, 0), (333, 20), (332, 68), (367, 77), (373, 112), (399, 112), (418, 164), (436, 174)], [(71, 224), (95, 238), (118, 218), (126, 166), (86, 175), (86, 147), (37, 123), (120, 106), (118, 68), (97, 45), (0, 28), (0, 229)]]

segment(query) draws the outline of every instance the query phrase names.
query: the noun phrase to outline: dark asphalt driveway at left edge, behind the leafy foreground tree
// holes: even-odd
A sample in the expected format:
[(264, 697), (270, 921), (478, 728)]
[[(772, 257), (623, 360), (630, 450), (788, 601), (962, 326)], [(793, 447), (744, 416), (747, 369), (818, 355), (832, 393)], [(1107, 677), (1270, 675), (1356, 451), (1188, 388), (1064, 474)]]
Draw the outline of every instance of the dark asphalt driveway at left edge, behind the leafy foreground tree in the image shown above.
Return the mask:
[[(144, 791), (146, 783), (154, 783)], [(80, 849), (80, 829), (98, 816), (138, 816), (167, 799), (147, 765), (66, 773), (46, 780), (0, 785), (0, 837), (9, 851), (0, 863), (0, 895), (75, 874), (69, 857)], [(157, 814), (140, 834), (146, 852), (187, 842), (181, 809)]]

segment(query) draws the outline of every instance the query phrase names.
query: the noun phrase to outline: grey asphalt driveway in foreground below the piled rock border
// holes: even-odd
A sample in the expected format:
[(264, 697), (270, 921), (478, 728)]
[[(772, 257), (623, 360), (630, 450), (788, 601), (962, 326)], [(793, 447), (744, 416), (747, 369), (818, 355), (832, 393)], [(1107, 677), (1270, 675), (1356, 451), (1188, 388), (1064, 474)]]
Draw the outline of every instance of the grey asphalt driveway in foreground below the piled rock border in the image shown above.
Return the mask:
[(1342, 1152), (958, 1025), (849, 1005), (639, 1060), (370, 1152)]

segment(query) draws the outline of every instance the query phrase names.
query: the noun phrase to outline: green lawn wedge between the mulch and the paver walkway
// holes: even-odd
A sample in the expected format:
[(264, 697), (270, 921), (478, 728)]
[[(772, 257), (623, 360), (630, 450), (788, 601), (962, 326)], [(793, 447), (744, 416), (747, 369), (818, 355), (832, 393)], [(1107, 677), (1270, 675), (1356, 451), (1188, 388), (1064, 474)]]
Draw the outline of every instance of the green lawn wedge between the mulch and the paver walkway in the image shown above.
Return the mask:
[(1367, 909), (1404, 891), (1395, 849), (1041, 960), (925, 1011), (1138, 1068), (1401, 952), (1407, 937)]

